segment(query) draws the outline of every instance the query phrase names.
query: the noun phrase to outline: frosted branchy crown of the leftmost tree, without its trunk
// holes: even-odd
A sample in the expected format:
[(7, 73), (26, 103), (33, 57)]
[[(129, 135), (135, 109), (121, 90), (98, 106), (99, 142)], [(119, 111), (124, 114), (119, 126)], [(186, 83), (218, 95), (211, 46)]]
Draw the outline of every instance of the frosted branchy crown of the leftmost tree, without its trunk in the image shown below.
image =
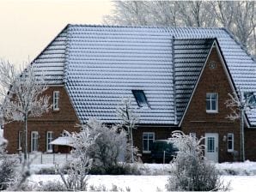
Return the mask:
[[(9, 66), (9, 68), (11, 71), (9, 73), (12, 73), (13, 67)], [(49, 104), (50, 96), (44, 94), (48, 87), (42, 72), (39, 75), (38, 69), (31, 64), (20, 75), (10, 76), (9, 92), (3, 102), (5, 120), (24, 122), (27, 117), (40, 117), (49, 111), (51, 107)], [(14, 76), (15, 78), (12, 79)], [(8, 84), (5, 83), (5, 85)]]

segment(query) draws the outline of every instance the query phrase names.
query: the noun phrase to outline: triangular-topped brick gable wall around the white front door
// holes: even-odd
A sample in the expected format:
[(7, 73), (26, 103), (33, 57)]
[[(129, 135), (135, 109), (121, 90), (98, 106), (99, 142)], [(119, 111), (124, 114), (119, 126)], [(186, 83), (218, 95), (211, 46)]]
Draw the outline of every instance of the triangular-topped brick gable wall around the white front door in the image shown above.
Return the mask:
[[(216, 69), (210, 69), (210, 61), (216, 61)], [(206, 93), (218, 93), (217, 113), (206, 112)], [(235, 150), (240, 152), (240, 121), (233, 122), (227, 118), (231, 111), (224, 104), (229, 99), (229, 93), (233, 93), (233, 91), (228, 76), (222, 67), (216, 48), (213, 48), (186, 111), (181, 129), (186, 134), (196, 133), (198, 138), (204, 136), (205, 133), (218, 133), (219, 162), (233, 161), (234, 159), (233, 155), (228, 153), (227, 141), (223, 141), (224, 136), (227, 136), (228, 133), (234, 134)]]

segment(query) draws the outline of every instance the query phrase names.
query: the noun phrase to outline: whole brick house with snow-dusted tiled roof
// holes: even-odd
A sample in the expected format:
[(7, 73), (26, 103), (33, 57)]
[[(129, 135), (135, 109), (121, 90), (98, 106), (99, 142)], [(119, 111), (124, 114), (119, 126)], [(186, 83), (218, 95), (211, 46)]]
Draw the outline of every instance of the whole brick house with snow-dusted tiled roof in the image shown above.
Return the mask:
[[(96, 117), (119, 123), (116, 107), (130, 97), (140, 118), (134, 145), (149, 161), (154, 140), (176, 129), (205, 136), (205, 155), (233, 161), (240, 121), (230, 121), (228, 94), (256, 92), (256, 63), (223, 28), (68, 25), (34, 64), (46, 71), (52, 111), (28, 122), (30, 152)], [(256, 160), (256, 111), (245, 119), (246, 158)], [(21, 124), (9, 123), (9, 153), (21, 147)], [(54, 148), (61, 151), (60, 148)]]

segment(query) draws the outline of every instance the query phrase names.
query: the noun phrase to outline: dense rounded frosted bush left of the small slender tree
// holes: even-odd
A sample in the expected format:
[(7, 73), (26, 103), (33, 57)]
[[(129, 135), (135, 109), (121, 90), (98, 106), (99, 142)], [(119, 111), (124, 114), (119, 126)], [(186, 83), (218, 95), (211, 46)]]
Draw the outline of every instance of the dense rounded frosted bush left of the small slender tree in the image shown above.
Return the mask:
[(123, 129), (113, 125), (101, 123), (96, 119), (90, 119), (86, 125), (90, 134), (95, 137), (94, 144), (89, 147), (89, 156), (94, 159), (94, 171), (101, 174), (119, 173), (124, 169), (119, 164), (124, 160), (126, 148), (126, 133)]

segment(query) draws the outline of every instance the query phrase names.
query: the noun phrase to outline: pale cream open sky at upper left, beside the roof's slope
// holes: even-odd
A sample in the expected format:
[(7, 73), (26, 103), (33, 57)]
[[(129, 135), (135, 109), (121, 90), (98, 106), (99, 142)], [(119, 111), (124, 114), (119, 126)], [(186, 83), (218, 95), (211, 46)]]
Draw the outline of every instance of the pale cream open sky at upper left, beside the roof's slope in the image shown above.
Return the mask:
[(0, 0), (0, 58), (32, 60), (68, 24), (102, 24), (110, 0)]

